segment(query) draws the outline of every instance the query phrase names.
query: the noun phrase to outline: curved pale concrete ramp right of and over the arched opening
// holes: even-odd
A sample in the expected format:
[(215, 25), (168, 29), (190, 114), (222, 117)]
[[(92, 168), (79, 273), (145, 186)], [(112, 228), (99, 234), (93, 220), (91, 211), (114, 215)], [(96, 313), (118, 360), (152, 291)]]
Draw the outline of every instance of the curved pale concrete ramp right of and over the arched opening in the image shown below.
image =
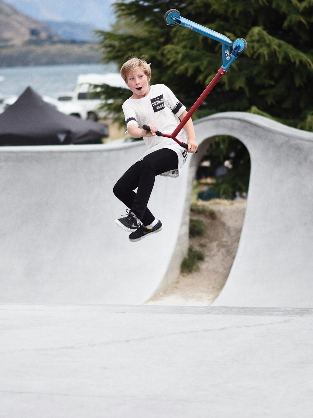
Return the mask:
[(201, 147), (232, 135), (251, 158), (237, 255), (213, 305), (313, 306), (313, 134), (240, 112), (196, 127)]

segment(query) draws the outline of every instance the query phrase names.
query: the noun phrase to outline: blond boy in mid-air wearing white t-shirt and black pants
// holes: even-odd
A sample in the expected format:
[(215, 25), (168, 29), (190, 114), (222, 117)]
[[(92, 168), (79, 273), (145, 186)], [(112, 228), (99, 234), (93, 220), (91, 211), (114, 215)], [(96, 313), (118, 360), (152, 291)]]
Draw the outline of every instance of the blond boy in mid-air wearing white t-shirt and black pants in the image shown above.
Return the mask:
[[(157, 130), (172, 133), (187, 110), (164, 84), (150, 86), (150, 64), (144, 59), (131, 58), (122, 66), (121, 76), (133, 93), (123, 104), (126, 133), (134, 138), (143, 137), (148, 146), (146, 153), (126, 171), (113, 189), (115, 196), (129, 207), (128, 215), (115, 222), (131, 232), (129, 240), (135, 242), (162, 229), (161, 221), (155, 219), (147, 208), (155, 176), (178, 177), (187, 152), (195, 153), (198, 146), (191, 119), (184, 126), (188, 150), (171, 138), (156, 136)], [(149, 126), (150, 132), (141, 128), (144, 124)], [(186, 142), (184, 130), (177, 135), (182, 142)]]

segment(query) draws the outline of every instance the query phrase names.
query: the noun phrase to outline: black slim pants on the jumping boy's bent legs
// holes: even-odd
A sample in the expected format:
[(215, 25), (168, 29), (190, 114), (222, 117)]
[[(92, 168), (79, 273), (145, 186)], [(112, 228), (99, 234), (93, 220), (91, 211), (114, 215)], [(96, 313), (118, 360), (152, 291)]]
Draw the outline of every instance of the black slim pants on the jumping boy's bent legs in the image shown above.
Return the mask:
[(147, 208), (147, 204), (155, 176), (177, 168), (178, 156), (175, 151), (168, 148), (154, 151), (146, 155), (143, 160), (134, 163), (121, 176), (113, 188), (113, 193), (144, 225), (149, 225), (154, 221), (154, 216)]

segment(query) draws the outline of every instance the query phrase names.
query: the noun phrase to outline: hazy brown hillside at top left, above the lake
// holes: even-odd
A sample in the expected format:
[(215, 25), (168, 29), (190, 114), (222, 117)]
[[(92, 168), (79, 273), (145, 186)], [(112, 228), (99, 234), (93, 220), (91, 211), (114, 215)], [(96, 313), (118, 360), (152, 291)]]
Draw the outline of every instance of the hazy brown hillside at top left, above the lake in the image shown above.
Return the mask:
[(0, 0), (0, 67), (98, 63), (95, 43), (61, 39), (45, 23)]

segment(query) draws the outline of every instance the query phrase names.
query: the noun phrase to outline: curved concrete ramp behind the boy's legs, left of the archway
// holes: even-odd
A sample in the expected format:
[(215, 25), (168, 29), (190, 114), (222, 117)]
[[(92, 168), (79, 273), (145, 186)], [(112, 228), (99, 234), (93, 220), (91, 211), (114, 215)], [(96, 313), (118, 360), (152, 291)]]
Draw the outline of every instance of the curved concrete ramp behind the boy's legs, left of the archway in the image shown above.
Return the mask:
[[(113, 186), (144, 143), (0, 149), (1, 302), (141, 304), (168, 273), (188, 171), (157, 178), (149, 207), (164, 230), (129, 242)], [(177, 192), (179, 191), (179, 192)]]

